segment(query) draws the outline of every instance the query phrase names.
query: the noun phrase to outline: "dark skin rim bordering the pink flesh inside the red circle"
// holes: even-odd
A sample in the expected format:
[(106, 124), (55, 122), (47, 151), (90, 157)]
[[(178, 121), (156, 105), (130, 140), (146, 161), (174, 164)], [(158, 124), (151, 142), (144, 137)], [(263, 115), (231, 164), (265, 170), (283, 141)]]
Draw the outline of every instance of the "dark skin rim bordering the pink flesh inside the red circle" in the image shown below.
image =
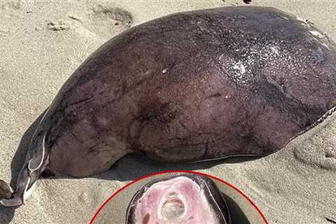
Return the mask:
[[(130, 204), (128, 205), (127, 212), (126, 212), (126, 222), (125, 224), (137, 224), (141, 223), (139, 220), (136, 220), (136, 210), (137, 204), (139, 200), (141, 200), (141, 197), (144, 195), (144, 193), (151, 188), (155, 183), (160, 183), (164, 181), (168, 181), (171, 179), (176, 179), (177, 177), (186, 177), (192, 181), (195, 181), (198, 186), (202, 189), (202, 192), (204, 193), (204, 196), (207, 198), (207, 202), (209, 203), (212, 211), (215, 212), (216, 218), (218, 223), (221, 224), (230, 224), (231, 218), (230, 218), (230, 211), (228, 210), (228, 205), (225, 202), (225, 199), (223, 197), (223, 193), (218, 189), (216, 186), (216, 183), (209, 179), (207, 176), (202, 176), (198, 174), (170, 174), (168, 177), (162, 178), (158, 177), (158, 179), (153, 179), (152, 181), (146, 183), (145, 186), (143, 186), (140, 190), (135, 193), (133, 196)], [(153, 209), (153, 208), (148, 208)], [(186, 209), (188, 209), (186, 207)], [(188, 211), (186, 211), (188, 213)], [(208, 212), (208, 211), (204, 211)], [(150, 217), (145, 216), (142, 223), (147, 224), (149, 223), (148, 220), (150, 220)], [(153, 223), (153, 221), (151, 222)], [(210, 224), (210, 223), (209, 223)]]

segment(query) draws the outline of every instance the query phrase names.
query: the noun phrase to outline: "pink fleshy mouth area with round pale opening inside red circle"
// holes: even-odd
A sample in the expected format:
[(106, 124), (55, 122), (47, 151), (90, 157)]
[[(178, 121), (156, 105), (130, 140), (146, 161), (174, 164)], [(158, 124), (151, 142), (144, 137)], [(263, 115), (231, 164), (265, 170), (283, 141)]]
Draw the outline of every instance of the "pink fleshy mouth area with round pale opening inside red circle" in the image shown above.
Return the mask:
[(204, 189), (185, 176), (154, 183), (135, 206), (137, 224), (219, 224)]

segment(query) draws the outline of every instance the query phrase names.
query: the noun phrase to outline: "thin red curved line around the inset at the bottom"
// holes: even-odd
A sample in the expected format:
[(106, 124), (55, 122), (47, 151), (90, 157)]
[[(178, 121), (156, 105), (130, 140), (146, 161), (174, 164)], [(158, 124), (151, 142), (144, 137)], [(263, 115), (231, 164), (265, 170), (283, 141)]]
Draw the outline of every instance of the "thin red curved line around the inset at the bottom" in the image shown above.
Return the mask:
[(203, 176), (207, 176), (211, 179), (215, 179), (217, 181), (221, 181), (222, 183), (225, 183), (226, 185), (230, 186), (231, 188), (237, 190), (238, 193), (240, 193), (241, 195), (243, 195), (246, 200), (248, 200), (248, 202), (250, 202), (253, 207), (258, 211), (258, 213), (260, 214), (260, 216), (262, 217), (262, 219), (265, 221), (266, 224), (269, 224), (264, 216), (264, 214), (262, 214), (262, 212), (260, 211), (260, 209), (244, 194), (241, 192), (241, 190), (239, 190), (238, 188), (236, 188), (235, 186), (233, 186), (231, 183), (228, 183), (226, 181), (223, 181), (222, 179), (219, 179), (216, 176), (212, 176), (210, 174), (204, 174), (202, 172), (195, 172), (195, 171), (190, 171), (190, 170), (169, 170), (169, 171), (164, 171), (164, 172), (158, 172), (155, 174), (149, 174), (146, 176), (141, 176), (139, 179), (135, 179), (134, 181), (127, 183), (127, 185), (123, 186), (122, 188), (120, 188), (119, 190), (116, 191), (116, 193), (113, 193), (113, 195), (111, 195), (103, 204), (102, 206), (98, 209), (98, 211), (94, 214), (94, 216), (92, 217), (90, 224), (93, 224), (94, 218), (96, 218), (99, 214), (100, 211), (102, 211), (102, 209), (105, 207), (105, 205), (114, 197), (116, 196), (118, 193), (120, 193), (120, 191), (124, 190), (125, 188), (127, 188), (128, 186), (132, 185), (133, 183), (136, 183), (137, 181), (141, 181), (143, 179), (146, 179), (150, 176), (156, 176), (156, 175), (160, 175), (160, 174), (167, 174), (167, 173), (191, 173), (191, 174), (199, 174), (199, 175), (203, 175)]

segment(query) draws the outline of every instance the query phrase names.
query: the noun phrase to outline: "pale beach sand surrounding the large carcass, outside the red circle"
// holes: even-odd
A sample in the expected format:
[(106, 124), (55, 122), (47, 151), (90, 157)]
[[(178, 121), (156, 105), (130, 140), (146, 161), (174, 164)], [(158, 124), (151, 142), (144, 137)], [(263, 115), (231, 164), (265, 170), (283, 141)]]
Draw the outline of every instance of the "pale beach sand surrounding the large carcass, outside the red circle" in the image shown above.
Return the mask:
[[(237, 5), (245, 4), (239, 0), (0, 1), (0, 179), (9, 183), (16, 178), (34, 121), (65, 80), (130, 22), (134, 26), (183, 10)], [(251, 5), (272, 6), (314, 22), (336, 41), (335, 0), (253, 0)], [(89, 223), (118, 188), (168, 169), (193, 169), (232, 183), (255, 202), (269, 223), (336, 223), (336, 113), (278, 153), (258, 160), (172, 165), (130, 155), (99, 176), (38, 181), (25, 206), (0, 207), (0, 223)], [(123, 221), (113, 218), (110, 223)]]

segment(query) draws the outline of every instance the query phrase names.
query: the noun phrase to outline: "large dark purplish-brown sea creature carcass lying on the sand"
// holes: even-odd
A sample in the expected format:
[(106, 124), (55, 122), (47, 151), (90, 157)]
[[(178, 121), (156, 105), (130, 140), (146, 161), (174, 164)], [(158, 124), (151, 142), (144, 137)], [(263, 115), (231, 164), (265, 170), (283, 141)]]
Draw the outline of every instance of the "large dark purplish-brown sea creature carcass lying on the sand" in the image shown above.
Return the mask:
[(43, 172), (90, 176), (127, 153), (269, 155), (335, 105), (335, 44), (307, 23), (262, 7), (158, 18), (112, 38), (66, 81), (10, 198), (0, 185), (1, 204), (25, 202)]

